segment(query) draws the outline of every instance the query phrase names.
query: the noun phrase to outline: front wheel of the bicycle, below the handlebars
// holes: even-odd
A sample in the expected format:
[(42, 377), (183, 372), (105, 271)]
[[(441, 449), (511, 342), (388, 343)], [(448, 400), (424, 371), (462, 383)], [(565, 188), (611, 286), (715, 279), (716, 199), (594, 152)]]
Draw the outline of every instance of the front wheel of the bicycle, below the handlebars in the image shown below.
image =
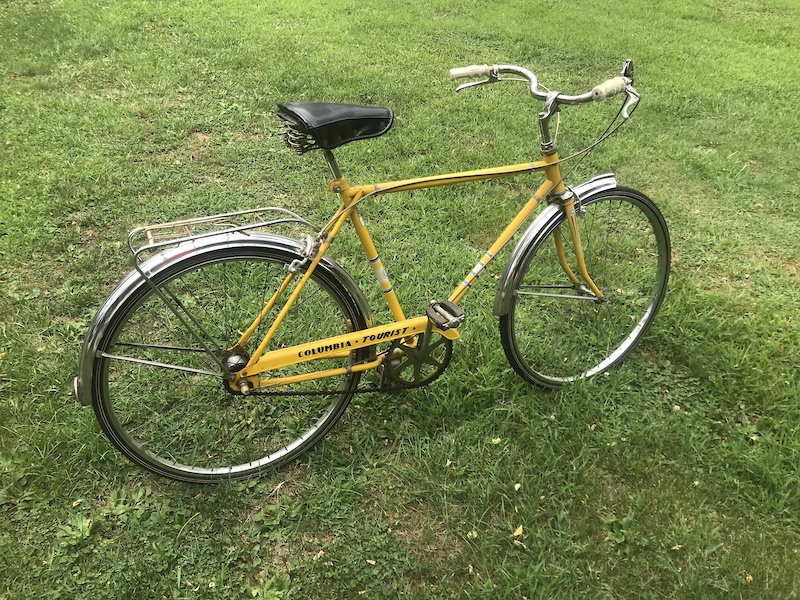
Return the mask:
[(652, 200), (616, 187), (575, 207), (587, 271), (605, 299), (596, 299), (565, 274), (556, 231), (573, 264), (575, 255), (562, 215), (527, 250), (510, 310), (500, 317), (503, 349), (514, 370), (549, 388), (602, 373), (628, 356), (667, 291), (669, 233)]

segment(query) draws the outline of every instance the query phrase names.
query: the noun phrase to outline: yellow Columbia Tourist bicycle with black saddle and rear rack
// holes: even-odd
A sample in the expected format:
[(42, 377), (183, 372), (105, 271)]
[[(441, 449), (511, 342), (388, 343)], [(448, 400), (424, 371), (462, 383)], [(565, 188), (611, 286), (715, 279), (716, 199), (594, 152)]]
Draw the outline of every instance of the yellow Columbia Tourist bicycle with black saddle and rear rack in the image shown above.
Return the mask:
[[(458, 303), (542, 204), (495, 296), (510, 364), (525, 380), (556, 388), (602, 373), (633, 350), (666, 293), (667, 225), (649, 198), (618, 186), (612, 173), (567, 186), (561, 171), (567, 159), (559, 158), (550, 132), (561, 107), (624, 93), (606, 131), (574, 156), (586, 156), (615, 133), (639, 100), (632, 62), (580, 95), (540, 89), (534, 73), (513, 65), (453, 69), (450, 76), (481, 78), (456, 91), (529, 83), (531, 95), (544, 102), (541, 160), (350, 186), (332, 151), (386, 133), (391, 109), (280, 104), (286, 143), (300, 154), (322, 150), (333, 176), (329, 188), (340, 206), (324, 226), (268, 207), (131, 232), (135, 269), (99, 309), (75, 378), (76, 398), (92, 404), (104, 433), (129, 459), (182, 481), (244, 479), (308, 451), (355, 393), (429, 384), (459, 337), (465, 317)], [(359, 204), (380, 194), (533, 172), (542, 172), (544, 182), (447, 300), (406, 317)], [(392, 322), (374, 322), (364, 293), (327, 254), (346, 221)], [(289, 235), (265, 231), (275, 227)], [(359, 387), (365, 372), (375, 374), (372, 387)]]

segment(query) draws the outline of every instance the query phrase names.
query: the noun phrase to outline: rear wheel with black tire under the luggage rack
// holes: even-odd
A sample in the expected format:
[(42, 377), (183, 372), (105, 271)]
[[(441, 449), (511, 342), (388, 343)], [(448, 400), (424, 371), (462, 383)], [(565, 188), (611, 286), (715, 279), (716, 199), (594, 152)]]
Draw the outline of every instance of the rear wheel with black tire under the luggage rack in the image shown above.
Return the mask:
[[(219, 347), (230, 348), (283, 280), (285, 265), (296, 258), (289, 250), (264, 246), (189, 252), (151, 274), (153, 286), (142, 279), (121, 306), (108, 312), (107, 323), (100, 325), (105, 334), (93, 365), (92, 403), (103, 431), (128, 458), (180, 481), (240, 480), (297, 459), (328, 433), (347, 408), (359, 373), (277, 388), (292, 392), (285, 396), (241, 395), (229, 391), (221, 376), (112, 358), (221, 373), (154, 287), (178, 298)], [(270, 348), (364, 329), (367, 320), (346, 286), (320, 266)], [(271, 323), (265, 318), (250, 343), (257, 345)], [(368, 355), (361, 348), (347, 358), (301, 363), (274, 375), (346, 366)], [(319, 395), (320, 390), (336, 393)], [(298, 396), (298, 391), (310, 394)]]

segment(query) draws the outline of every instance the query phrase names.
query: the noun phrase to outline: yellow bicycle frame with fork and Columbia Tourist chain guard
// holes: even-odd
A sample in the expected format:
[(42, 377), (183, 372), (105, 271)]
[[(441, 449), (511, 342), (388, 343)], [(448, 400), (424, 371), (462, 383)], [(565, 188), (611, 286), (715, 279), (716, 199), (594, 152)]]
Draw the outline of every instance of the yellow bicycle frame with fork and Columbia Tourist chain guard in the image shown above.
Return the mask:
[[(557, 196), (565, 191), (557, 153), (554, 152), (553, 154), (545, 155), (539, 162), (522, 163), (518, 165), (508, 165), (491, 169), (464, 171), (459, 173), (450, 173), (447, 175), (436, 175), (432, 177), (391, 181), (356, 187), (350, 187), (344, 177), (340, 177), (339, 179), (331, 182), (330, 189), (339, 194), (342, 204), (333, 219), (331, 219), (331, 222), (329, 222), (328, 226), (323, 229), (323, 231), (327, 232), (327, 235), (322, 236), (322, 242), (313, 258), (310, 259), (311, 262), (308, 268), (297, 282), (295, 289), (289, 295), (289, 298), (286, 300), (284, 306), (278, 312), (269, 330), (261, 340), (258, 349), (252, 354), (246, 367), (236, 373), (235, 381), (231, 381), (229, 383), (231, 388), (235, 390), (263, 390), (281, 385), (288, 385), (303, 381), (322, 379), (325, 377), (333, 377), (347, 373), (355, 373), (374, 369), (383, 363), (385, 355), (378, 355), (373, 360), (364, 363), (335, 369), (314, 371), (310, 373), (304, 373), (302, 375), (266, 379), (261, 379), (259, 377), (259, 375), (262, 373), (267, 373), (269, 371), (274, 371), (303, 362), (347, 357), (351, 352), (358, 350), (359, 348), (374, 346), (378, 343), (390, 342), (396, 339), (409, 338), (425, 332), (426, 328), (429, 326), (429, 320), (427, 316), (409, 319), (403, 313), (403, 309), (397, 300), (394, 288), (386, 274), (380, 256), (378, 255), (378, 251), (375, 248), (375, 244), (372, 242), (372, 238), (367, 231), (364, 221), (359, 213), (358, 203), (361, 201), (361, 199), (366, 196), (372, 196), (376, 194), (389, 194), (408, 190), (426, 189), (436, 186), (454, 185), (457, 183), (484, 181), (487, 179), (510, 177), (513, 175), (533, 173), (536, 171), (544, 172), (545, 181), (542, 183), (539, 189), (536, 190), (536, 193), (533, 194), (525, 206), (522, 207), (519, 213), (517, 213), (514, 219), (506, 226), (497, 240), (486, 251), (478, 263), (450, 294), (448, 299), (451, 302), (458, 303), (467, 294), (472, 284), (475, 283), (486, 266), (500, 252), (503, 246), (505, 246), (505, 244), (513, 237), (522, 223), (531, 215), (531, 213), (539, 206), (539, 204), (543, 202), (548, 195), (555, 194)], [(602, 293), (599, 289), (597, 289), (594, 282), (592, 282), (591, 278), (589, 277), (589, 274), (586, 272), (586, 265), (583, 260), (583, 252), (581, 250), (578, 225), (575, 218), (574, 199), (572, 195), (567, 194), (562, 203), (567, 213), (567, 222), (569, 224), (570, 233), (573, 240), (578, 270), (593, 293), (598, 297), (602, 297)], [(288, 314), (292, 304), (303, 289), (303, 286), (308, 281), (309, 277), (311, 277), (317, 264), (319, 264), (320, 260), (322, 260), (322, 257), (327, 252), (336, 235), (339, 233), (339, 230), (348, 219), (352, 221), (353, 226), (355, 227), (356, 235), (361, 242), (364, 253), (370, 262), (376, 279), (378, 280), (381, 291), (386, 299), (386, 303), (388, 304), (392, 316), (394, 317), (394, 321), (385, 325), (370, 327), (368, 329), (362, 329), (352, 333), (346, 333), (335, 337), (292, 346), (290, 348), (280, 348), (267, 352), (267, 346), (269, 345), (269, 341), (272, 339), (275, 331), (278, 329), (278, 327), (280, 327), (281, 322)], [(561, 242), (560, 231), (556, 232), (554, 239), (556, 242), (559, 261), (561, 262), (561, 265), (569, 279), (573, 282), (573, 284), (577, 285), (579, 280), (567, 264), (564, 247)], [(252, 334), (256, 331), (263, 319), (266, 318), (267, 314), (272, 311), (279, 298), (289, 288), (294, 279), (295, 274), (293, 273), (289, 273), (286, 276), (278, 290), (265, 304), (259, 316), (240, 338), (238, 342), (239, 347), (245, 346)], [(433, 327), (433, 331), (451, 340), (459, 337), (455, 329), (443, 331)]]

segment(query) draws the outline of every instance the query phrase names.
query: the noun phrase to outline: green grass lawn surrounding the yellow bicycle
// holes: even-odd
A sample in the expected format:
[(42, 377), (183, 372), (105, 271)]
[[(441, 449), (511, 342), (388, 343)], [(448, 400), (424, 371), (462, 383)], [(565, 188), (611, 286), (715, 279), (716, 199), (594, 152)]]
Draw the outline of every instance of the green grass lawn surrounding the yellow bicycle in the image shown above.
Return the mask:
[[(786, 0), (0, 2), (0, 598), (800, 594), (799, 24)], [(385, 181), (535, 156), (524, 90), (454, 95), (448, 68), (584, 91), (629, 57), (641, 107), (574, 178), (615, 171), (672, 233), (669, 296), (621, 368), (524, 384), (485, 275), (441, 379), (358, 396), (257, 481), (153, 477), (73, 402), (130, 228), (333, 209), (321, 158), (275, 135), (277, 102), (391, 106), (387, 136), (337, 153)], [(613, 110), (565, 110), (563, 147)], [(409, 313), (534, 187), (512, 185), (365, 204)], [(354, 248), (333, 253), (378, 301)]]

